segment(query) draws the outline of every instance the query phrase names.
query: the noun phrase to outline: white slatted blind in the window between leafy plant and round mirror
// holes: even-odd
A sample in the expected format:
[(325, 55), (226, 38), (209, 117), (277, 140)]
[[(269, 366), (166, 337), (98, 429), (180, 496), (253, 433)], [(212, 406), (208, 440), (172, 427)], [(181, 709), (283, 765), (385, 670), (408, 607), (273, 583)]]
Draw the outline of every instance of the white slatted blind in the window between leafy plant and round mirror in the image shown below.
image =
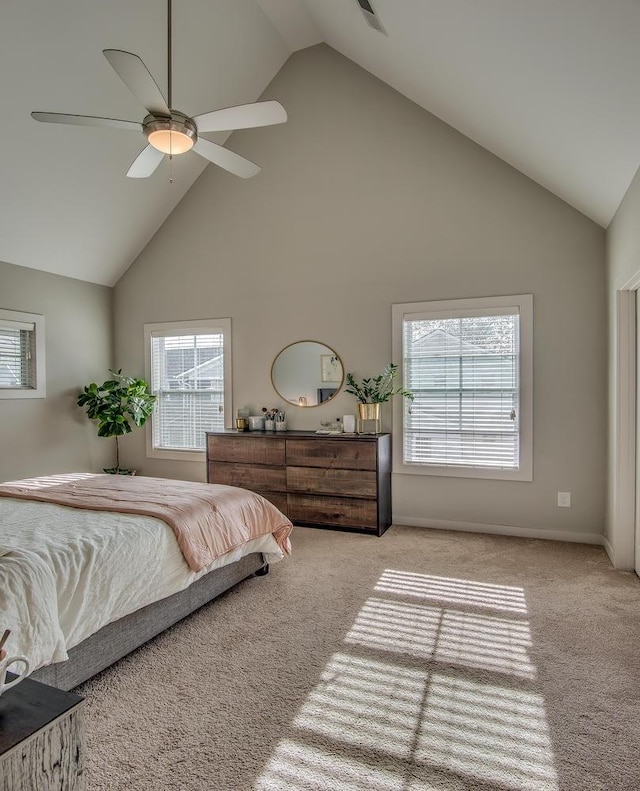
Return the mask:
[(153, 447), (204, 450), (205, 432), (224, 428), (224, 332), (151, 332)]

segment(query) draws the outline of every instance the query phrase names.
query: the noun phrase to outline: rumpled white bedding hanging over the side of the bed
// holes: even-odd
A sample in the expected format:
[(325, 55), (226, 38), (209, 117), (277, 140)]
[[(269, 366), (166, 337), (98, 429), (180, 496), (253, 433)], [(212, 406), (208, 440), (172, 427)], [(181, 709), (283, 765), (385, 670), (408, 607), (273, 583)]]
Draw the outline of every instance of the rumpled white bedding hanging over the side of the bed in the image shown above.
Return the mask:
[(271, 535), (195, 573), (159, 519), (0, 498), (0, 631), (31, 671), (111, 621), (188, 587), (251, 552), (283, 558)]

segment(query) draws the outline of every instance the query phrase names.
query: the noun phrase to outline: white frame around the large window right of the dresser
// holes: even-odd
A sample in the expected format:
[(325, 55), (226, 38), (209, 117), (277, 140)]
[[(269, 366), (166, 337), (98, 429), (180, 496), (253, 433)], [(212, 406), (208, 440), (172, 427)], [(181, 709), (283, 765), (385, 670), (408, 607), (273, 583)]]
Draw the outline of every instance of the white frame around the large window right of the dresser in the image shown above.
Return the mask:
[[(436, 300), (428, 302), (405, 302), (392, 306), (393, 358), (398, 362), (400, 381), (404, 381), (404, 350), (402, 345), (404, 317), (420, 313), (478, 315), (483, 310), (517, 308), (520, 316), (519, 350), (519, 464), (516, 469), (494, 469), (489, 467), (465, 467), (460, 465), (431, 465), (404, 461), (404, 410), (405, 399), (393, 399), (393, 472), (407, 475), (434, 475), (454, 478), (484, 478), (506, 481), (533, 480), (533, 295), (517, 294), (500, 297), (477, 297), (464, 299)], [(490, 315), (488, 313), (487, 315)]]

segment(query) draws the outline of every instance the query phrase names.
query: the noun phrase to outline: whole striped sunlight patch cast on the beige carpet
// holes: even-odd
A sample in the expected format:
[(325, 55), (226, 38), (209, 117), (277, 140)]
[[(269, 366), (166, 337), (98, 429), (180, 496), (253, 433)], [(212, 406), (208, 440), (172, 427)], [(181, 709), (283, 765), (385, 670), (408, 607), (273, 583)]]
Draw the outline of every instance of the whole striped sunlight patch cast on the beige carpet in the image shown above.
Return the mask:
[(254, 788), (558, 791), (524, 590), (389, 569), (374, 590)]

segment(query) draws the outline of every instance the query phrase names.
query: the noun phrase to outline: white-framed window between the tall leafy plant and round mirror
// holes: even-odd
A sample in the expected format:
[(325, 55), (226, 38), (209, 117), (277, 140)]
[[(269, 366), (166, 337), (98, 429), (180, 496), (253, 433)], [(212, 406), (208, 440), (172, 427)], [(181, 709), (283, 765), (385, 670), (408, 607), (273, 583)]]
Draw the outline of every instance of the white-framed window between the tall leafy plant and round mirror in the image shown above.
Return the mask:
[(157, 396), (147, 455), (199, 460), (205, 432), (231, 414), (231, 320), (146, 324), (145, 347)]

